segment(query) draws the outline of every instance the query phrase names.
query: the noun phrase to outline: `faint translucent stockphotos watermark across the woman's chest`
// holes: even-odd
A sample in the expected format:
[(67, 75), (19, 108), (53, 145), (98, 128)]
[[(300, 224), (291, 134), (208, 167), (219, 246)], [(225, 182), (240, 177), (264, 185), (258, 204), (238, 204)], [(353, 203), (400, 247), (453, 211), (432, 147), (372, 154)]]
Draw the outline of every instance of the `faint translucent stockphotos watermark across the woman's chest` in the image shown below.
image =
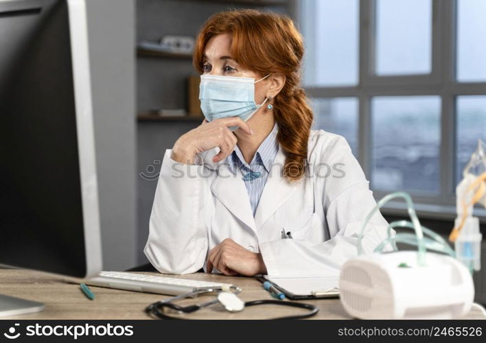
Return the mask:
[[(254, 163), (250, 165), (250, 169), (253, 169)], [(279, 176), (299, 176), (303, 175), (303, 178), (344, 178), (346, 176), (345, 163), (308, 163), (304, 160), (304, 171), (302, 171), (299, 163), (289, 163), (284, 169), (284, 165), (281, 163), (270, 163), (272, 166), (268, 177), (271, 178), (277, 173)], [(155, 160), (153, 164), (148, 165), (145, 171), (141, 171), (139, 176), (143, 180), (154, 181), (160, 176), (161, 161)], [(196, 167), (196, 168), (195, 168)], [(171, 165), (171, 177), (172, 178), (212, 178), (218, 176), (220, 178), (232, 178), (235, 174), (222, 173), (223, 169), (229, 169), (235, 171), (237, 169), (242, 170), (243, 174), (246, 174), (240, 163), (218, 163), (216, 165), (194, 165), (191, 163), (172, 163)], [(280, 172), (283, 171), (283, 175)], [(278, 171), (278, 172), (277, 172)]]

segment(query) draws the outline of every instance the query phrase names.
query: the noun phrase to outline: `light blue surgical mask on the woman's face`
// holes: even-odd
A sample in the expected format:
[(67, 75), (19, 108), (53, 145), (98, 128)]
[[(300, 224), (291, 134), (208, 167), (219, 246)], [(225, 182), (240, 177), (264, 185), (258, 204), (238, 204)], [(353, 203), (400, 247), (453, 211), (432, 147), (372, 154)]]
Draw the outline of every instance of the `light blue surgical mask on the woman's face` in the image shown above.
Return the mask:
[[(199, 99), (206, 120), (227, 117), (240, 117), (244, 121), (250, 119), (267, 100), (265, 98), (259, 105), (255, 103), (255, 83), (268, 75), (257, 81), (254, 78), (201, 75)], [(235, 126), (230, 129), (237, 128)]]

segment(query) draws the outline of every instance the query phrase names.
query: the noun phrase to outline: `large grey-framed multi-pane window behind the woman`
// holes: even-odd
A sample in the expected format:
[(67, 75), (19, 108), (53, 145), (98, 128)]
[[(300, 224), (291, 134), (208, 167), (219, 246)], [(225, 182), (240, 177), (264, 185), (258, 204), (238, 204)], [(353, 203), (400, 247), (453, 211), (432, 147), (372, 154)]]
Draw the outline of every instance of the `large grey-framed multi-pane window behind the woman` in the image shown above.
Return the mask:
[(301, 0), (314, 128), (343, 135), (375, 196), (454, 206), (486, 140), (486, 1)]

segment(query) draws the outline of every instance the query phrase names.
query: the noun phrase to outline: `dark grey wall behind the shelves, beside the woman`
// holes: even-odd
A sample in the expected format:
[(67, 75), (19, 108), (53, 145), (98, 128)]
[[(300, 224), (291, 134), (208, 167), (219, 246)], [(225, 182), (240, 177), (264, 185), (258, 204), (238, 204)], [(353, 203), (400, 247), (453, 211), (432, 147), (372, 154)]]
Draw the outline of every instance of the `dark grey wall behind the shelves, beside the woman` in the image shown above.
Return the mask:
[[(201, 25), (216, 12), (229, 8), (259, 8), (255, 5), (235, 4), (231, 1), (138, 0), (137, 41), (157, 41), (165, 34), (196, 36)], [(268, 8), (286, 12), (285, 5)], [(137, 58), (137, 107), (139, 112), (157, 108), (185, 108), (186, 78), (197, 75), (192, 60), (169, 58)], [(153, 176), (159, 173), (160, 163), (167, 148), (172, 147), (181, 134), (195, 128), (198, 122), (139, 122), (138, 173)], [(154, 161), (156, 163), (154, 163)], [(152, 167), (154, 167), (152, 171)], [(149, 168), (147, 170), (147, 167)], [(151, 173), (149, 171), (152, 171)], [(137, 178), (139, 263), (148, 263), (143, 247), (148, 236), (148, 222), (157, 180)]]

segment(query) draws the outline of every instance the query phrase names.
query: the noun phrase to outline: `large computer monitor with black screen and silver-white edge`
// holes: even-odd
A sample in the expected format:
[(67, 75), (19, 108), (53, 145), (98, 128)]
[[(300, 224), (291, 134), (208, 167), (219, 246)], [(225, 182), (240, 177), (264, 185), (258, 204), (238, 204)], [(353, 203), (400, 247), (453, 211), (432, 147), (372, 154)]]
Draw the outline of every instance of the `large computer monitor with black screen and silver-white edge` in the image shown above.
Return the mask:
[(76, 278), (102, 269), (84, 1), (0, 0), (0, 263)]

